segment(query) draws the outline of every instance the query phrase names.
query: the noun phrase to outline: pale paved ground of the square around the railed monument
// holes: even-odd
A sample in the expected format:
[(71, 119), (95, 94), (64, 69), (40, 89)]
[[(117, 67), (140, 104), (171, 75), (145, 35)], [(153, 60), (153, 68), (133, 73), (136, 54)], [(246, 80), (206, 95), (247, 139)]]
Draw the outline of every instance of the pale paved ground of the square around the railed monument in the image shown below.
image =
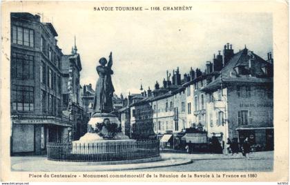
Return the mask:
[[(81, 164), (63, 166), (61, 162), (48, 162), (46, 156), (12, 157), (11, 164), (14, 166), (12, 168), (17, 171), (50, 171), (50, 169), (54, 169), (55, 171), (116, 171), (116, 169), (128, 169), (128, 171), (272, 171), (273, 169), (273, 151), (251, 153), (251, 158), (249, 160), (245, 159), (242, 154), (161, 153), (161, 156), (164, 160), (162, 160), (162, 162), (153, 162), (152, 165), (151, 163), (146, 163), (122, 164), (119, 166), (84, 166)], [(182, 162), (189, 161), (189, 159), (191, 159), (193, 163), (182, 164)], [(42, 165), (39, 166), (39, 164)], [(22, 167), (19, 168), (19, 166)], [(152, 168), (153, 166), (164, 167)]]

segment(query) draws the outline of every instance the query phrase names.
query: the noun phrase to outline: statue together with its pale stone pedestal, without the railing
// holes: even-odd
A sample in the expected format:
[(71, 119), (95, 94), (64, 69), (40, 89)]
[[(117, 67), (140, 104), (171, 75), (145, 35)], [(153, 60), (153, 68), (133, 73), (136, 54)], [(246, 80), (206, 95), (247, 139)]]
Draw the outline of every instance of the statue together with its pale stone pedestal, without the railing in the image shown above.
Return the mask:
[[(100, 66), (97, 66), (97, 84), (95, 87), (95, 99), (93, 109), (95, 113), (88, 122), (88, 133), (79, 141), (106, 140), (106, 139), (129, 139), (121, 131), (121, 123), (113, 111), (113, 93), (115, 91), (111, 75), (113, 75), (113, 58), (110, 52), (107, 64), (106, 58), (99, 59)], [(106, 66), (107, 64), (107, 66)]]

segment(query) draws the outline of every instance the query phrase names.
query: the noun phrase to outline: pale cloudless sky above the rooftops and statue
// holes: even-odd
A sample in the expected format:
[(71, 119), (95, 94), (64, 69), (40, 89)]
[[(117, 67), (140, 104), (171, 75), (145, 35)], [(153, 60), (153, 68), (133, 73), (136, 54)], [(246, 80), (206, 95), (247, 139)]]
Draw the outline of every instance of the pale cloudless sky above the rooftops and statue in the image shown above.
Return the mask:
[[(40, 12), (40, 11), (39, 11)], [(115, 93), (128, 95), (162, 84), (166, 70), (202, 68), (224, 44), (234, 52), (245, 45), (267, 59), (273, 50), (272, 17), (267, 13), (220, 12), (97, 12), (86, 8), (45, 10), (53, 23), (58, 46), (69, 54), (77, 38), (81, 56), (81, 85), (97, 81), (96, 66), (113, 52)]]

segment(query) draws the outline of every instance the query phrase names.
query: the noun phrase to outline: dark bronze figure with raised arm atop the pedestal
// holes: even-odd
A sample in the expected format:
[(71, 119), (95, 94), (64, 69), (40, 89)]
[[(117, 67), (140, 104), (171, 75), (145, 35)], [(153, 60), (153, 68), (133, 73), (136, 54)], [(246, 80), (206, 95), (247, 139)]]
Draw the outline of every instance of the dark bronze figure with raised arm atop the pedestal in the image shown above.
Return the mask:
[(107, 66), (107, 60), (104, 57), (99, 59), (99, 64), (101, 66), (97, 66), (99, 79), (95, 88), (94, 110), (95, 113), (110, 113), (113, 111), (112, 97), (115, 91), (110, 77), (110, 75), (113, 75), (111, 69), (113, 66), (112, 52), (110, 52)]

